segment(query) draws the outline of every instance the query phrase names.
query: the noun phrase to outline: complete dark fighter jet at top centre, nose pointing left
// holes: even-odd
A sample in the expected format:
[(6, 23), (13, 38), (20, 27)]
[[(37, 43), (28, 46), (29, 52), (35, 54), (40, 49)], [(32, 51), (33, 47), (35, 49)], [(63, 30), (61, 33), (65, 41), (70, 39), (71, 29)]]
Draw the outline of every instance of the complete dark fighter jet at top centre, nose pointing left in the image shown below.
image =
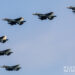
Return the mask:
[(46, 13), (46, 14), (40, 14), (40, 13), (34, 13), (33, 15), (37, 15), (40, 20), (53, 20), (56, 15), (54, 15), (54, 12)]

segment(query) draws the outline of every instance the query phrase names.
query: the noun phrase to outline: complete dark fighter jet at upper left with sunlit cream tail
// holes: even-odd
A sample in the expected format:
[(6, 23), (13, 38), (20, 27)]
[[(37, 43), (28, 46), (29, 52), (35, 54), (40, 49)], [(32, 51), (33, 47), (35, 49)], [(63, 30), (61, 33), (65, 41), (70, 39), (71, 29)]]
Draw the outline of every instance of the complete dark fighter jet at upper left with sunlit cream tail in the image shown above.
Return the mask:
[(26, 21), (24, 21), (23, 17), (16, 18), (16, 19), (4, 18), (3, 20), (7, 21), (8, 24), (10, 24), (10, 25), (16, 25), (16, 24), (22, 25), (22, 24), (24, 24), (24, 22), (26, 22)]

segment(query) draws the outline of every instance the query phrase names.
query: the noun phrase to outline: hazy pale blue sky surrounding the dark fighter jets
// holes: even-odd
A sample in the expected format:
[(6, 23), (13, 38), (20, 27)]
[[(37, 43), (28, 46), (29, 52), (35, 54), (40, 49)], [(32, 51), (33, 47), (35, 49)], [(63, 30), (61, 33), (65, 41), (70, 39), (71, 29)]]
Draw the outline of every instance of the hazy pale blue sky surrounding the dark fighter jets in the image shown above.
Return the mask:
[[(10, 56), (0, 57), (1, 65), (20, 64), (21, 70), (1, 75), (75, 75), (64, 73), (64, 65), (75, 66), (75, 14), (67, 9), (74, 0), (0, 0), (0, 36), (9, 41), (0, 43), (0, 50), (11, 48)], [(52, 21), (39, 20), (33, 13), (53, 11)], [(10, 26), (2, 18), (24, 17), (22, 26)]]

